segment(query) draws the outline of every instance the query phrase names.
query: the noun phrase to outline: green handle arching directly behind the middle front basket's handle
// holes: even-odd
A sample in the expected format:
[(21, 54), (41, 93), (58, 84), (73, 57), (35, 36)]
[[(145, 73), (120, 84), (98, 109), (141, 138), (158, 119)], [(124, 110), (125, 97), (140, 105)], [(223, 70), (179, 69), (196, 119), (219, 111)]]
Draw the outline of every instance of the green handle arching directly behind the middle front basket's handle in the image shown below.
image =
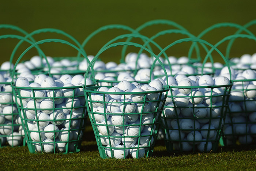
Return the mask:
[[(109, 46), (110, 44), (114, 43), (115, 41), (119, 40), (119, 39), (123, 39), (123, 38), (129, 38), (129, 37), (132, 37), (132, 38), (140, 38), (142, 39), (144, 42), (146, 42), (145, 40), (147, 40), (147, 42), (151, 42), (153, 43), (153, 45), (155, 45), (160, 51), (162, 50), (162, 47), (159, 46), (156, 42), (154, 42), (153, 40), (151, 40), (150, 38), (144, 36), (144, 35), (141, 35), (141, 34), (123, 34), (123, 35), (119, 35), (117, 36), (116, 38), (110, 40), (108, 43), (106, 43), (104, 46), (101, 47), (101, 49), (99, 51), (101, 51), (102, 49), (104, 49), (105, 47)], [(145, 45), (143, 45), (144, 47), (146, 47)], [(152, 48), (150, 46), (148, 46), (148, 49), (152, 50)], [(142, 50), (142, 49), (140, 49)], [(142, 51), (141, 51), (142, 52)], [(166, 53), (164, 53), (165, 57), (167, 57)], [(139, 59), (139, 56), (140, 54), (138, 54), (138, 57), (136, 59), (136, 63), (135, 63), (135, 71), (134, 71), (134, 74), (136, 74), (138, 72), (138, 69), (137, 69), (137, 64), (138, 64), (138, 59)]]

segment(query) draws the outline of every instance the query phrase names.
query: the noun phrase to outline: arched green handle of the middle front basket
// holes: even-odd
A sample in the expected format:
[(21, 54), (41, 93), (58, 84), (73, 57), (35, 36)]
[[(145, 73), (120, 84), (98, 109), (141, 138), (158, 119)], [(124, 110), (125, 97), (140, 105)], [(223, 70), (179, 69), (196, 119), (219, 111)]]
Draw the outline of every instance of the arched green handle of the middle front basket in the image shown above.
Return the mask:
[[(142, 46), (142, 45), (140, 45), (140, 44), (138, 44), (138, 43), (133, 43), (133, 42), (117, 42), (117, 43), (113, 43), (113, 44), (111, 44), (111, 45), (105, 47), (104, 49), (100, 50), (100, 51), (96, 54), (96, 56), (95, 56), (95, 57), (93, 58), (93, 60), (90, 62), (89, 66), (88, 66), (88, 68), (87, 68), (87, 70), (86, 70), (86, 73), (85, 73), (85, 75), (84, 75), (84, 83), (86, 83), (86, 79), (87, 79), (87, 76), (88, 76), (88, 73), (89, 73), (89, 70), (90, 70), (91, 66), (94, 64), (94, 62), (97, 60), (97, 58), (99, 57), (99, 55), (100, 55), (101, 53), (103, 53), (105, 50), (110, 49), (110, 48), (112, 48), (112, 47), (124, 46), (124, 45), (135, 46), (135, 47), (142, 48), (142, 49), (146, 50), (148, 53), (150, 53), (152, 56), (154, 56), (154, 57), (156, 58), (155, 61), (158, 61), (159, 64), (162, 66), (163, 71), (164, 71), (165, 76), (166, 76), (166, 81), (168, 82), (168, 75), (167, 75), (167, 72), (166, 72), (166, 70), (165, 70), (165, 66), (163, 65), (163, 63), (161, 62), (161, 60), (159, 60), (158, 56), (155, 55), (151, 50), (147, 49), (146, 47), (144, 47), (144, 46)], [(153, 71), (153, 69), (154, 69), (154, 65), (151, 66), (151, 71)], [(152, 72), (150, 73), (150, 80), (149, 80), (149, 82), (151, 81), (151, 74), (152, 74)], [(93, 77), (93, 82), (96, 83), (94, 77)], [(169, 88), (169, 86), (168, 86), (168, 88)]]

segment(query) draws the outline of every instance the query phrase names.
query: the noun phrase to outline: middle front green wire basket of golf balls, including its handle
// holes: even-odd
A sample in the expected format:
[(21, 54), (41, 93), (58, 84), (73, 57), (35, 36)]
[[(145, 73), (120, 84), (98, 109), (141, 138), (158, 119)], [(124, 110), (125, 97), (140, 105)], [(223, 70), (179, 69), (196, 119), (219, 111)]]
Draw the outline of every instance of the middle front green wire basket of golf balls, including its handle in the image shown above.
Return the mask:
[[(142, 45), (118, 42), (99, 51), (89, 67), (93, 66), (98, 56), (105, 50), (124, 45), (144, 48), (157, 58), (153, 52)], [(159, 61), (158, 58), (157, 60)], [(89, 68), (85, 78), (88, 72)], [(125, 85), (125, 83), (127, 85), (129, 82), (121, 81), (118, 86)], [(128, 87), (129, 85), (131, 86), (131, 83)], [(84, 88), (88, 115), (101, 158), (124, 159), (129, 156), (133, 158), (151, 156), (169, 87), (164, 86), (162, 90), (148, 92), (108, 92), (109, 88), (114, 87), (86, 86)], [(151, 95), (154, 98), (150, 97)]]

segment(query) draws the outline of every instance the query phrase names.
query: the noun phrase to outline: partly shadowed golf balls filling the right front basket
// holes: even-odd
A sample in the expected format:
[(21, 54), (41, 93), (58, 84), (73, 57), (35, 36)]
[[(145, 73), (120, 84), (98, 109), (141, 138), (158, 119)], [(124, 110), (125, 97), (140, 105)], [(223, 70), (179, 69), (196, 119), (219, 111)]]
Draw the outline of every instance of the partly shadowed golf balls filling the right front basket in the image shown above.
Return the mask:
[(169, 76), (168, 82), (171, 88), (162, 117), (166, 139), (176, 150), (192, 151), (197, 148), (200, 152), (211, 151), (212, 142), (218, 141), (218, 130), (224, 124), (223, 100), (229, 88), (225, 85), (229, 85), (230, 80), (226, 76), (177, 74)]

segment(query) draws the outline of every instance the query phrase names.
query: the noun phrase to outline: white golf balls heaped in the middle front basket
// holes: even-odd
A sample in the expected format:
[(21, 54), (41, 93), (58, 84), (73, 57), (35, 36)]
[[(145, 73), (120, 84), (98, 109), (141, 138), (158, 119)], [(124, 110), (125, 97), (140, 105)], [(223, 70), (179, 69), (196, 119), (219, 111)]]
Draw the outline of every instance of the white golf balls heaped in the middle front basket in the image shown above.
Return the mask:
[(88, 113), (106, 156), (144, 157), (157, 136), (156, 126), (165, 100), (163, 92), (168, 89), (164, 90), (159, 80), (142, 85), (125, 80), (111, 88), (99, 87), (97, 91), (88, 96)]

